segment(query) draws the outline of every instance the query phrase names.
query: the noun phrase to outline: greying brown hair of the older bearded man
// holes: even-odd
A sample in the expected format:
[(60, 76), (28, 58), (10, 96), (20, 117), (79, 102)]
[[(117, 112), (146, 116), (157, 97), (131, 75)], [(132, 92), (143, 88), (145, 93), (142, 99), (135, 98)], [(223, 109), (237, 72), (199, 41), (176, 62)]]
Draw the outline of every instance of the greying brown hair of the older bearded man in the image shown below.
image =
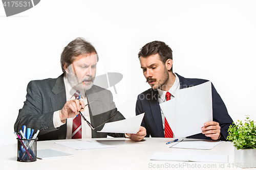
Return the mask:
[(94, 46), (86, 41), (84, 38), (78, 37), (71, 41), (65, 48), (60, 55), (60, 64), (62, 72), (65, 72), (64, 63), (67, 63), (67, 67), (73, 63), (75, 57), (79, 55), (86, 55), (95, 52), (97, 55), (97, 61), (99, 61), (99, 56), (97, 51), (95, 50)]

